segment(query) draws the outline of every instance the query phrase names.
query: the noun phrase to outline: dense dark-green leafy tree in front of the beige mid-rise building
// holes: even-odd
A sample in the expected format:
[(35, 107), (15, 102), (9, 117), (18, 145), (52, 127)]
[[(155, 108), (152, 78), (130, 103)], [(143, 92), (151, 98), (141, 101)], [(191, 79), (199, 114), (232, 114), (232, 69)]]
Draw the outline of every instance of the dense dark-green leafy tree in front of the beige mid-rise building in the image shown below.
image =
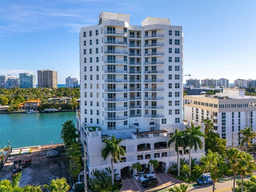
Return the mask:
[(220, 134), (209, 132), (205, 138), (205, 150), (218, 152), (218, 154), (223, 156), (226, 153), (226, 143), (226, 140), (220, 138)]

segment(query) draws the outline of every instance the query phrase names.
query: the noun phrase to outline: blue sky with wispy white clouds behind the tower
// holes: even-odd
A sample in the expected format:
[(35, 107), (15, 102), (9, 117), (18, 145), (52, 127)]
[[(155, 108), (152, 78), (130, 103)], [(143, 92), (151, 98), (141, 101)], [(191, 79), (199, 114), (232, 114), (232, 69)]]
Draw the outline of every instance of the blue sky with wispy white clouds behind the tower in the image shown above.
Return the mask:
[[(51, 68), (79, 77), (79, 31), (99, 12), (148, 16), (183, 27), (184, 74), (256, 79), (256, 1), (0, 1), (0, 74)], [(184, 76), (184, 82), (188, 79)]]

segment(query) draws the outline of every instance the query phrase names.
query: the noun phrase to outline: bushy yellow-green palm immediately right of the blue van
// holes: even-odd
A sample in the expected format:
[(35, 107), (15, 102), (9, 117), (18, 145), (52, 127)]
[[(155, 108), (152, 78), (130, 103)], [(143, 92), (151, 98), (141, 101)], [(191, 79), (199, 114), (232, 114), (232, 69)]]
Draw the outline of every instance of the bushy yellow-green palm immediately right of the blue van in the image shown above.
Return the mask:
[(223, 171), (226, 169), (225, 160), (217, 152), (213, 153), (211, 150), (208, 150), (208, 154), (205, 157), (202, 156), (201, 162), (203, 163), (204, 172), (210, 172), (213, 180), (212, 192), (214, 192), (215, 183), (218, 178), (223, 176)]

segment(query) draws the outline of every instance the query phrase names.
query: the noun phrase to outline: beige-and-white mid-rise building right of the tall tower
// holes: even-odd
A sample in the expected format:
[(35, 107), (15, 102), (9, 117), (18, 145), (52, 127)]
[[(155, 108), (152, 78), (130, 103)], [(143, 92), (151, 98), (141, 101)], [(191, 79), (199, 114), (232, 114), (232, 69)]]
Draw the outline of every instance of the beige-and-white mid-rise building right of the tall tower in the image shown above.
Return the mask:
[(200, 123), (206, 118), (212, 121), (214, 132), (227, 140), (228, 147), (239, 146), (240, 130), (256, 130), (256, 97), (245, 96), (244, 89), (223, 89), (214, 96), (184, 96), (184, 120)]

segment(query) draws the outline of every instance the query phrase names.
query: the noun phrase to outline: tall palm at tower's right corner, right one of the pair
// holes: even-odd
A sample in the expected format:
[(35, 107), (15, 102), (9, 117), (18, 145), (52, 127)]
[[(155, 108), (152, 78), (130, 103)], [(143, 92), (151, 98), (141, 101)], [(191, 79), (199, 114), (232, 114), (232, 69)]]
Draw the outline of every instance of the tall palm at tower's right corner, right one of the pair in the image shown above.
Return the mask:
[(192, 148), (195, 151), (203, 148), (203, 142), (200, 137), (204, 137), (204, 133), (201, 131), (200, 126), (194, 126), (194, 123), (191, 123), (191, 127), (186, 127), (184, 131), (184, 140), (186, 141), (185, 145), (189, 147), (189, 175), (191, 176), (191, 154)]

